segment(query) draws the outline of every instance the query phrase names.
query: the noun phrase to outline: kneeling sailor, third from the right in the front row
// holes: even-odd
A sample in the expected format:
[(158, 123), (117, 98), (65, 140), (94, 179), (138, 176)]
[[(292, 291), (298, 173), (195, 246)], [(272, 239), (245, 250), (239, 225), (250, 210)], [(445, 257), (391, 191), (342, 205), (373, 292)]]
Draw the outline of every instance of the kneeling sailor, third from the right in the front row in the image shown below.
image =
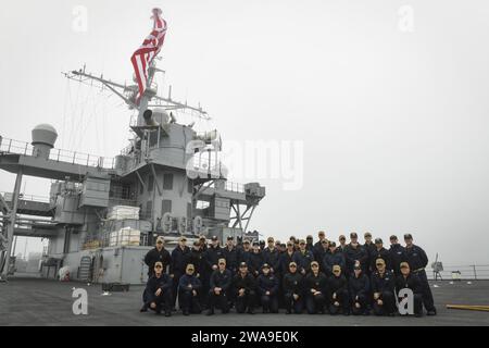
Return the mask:
[(359, 264), (353, 266), (353, 274), (348, 279), (348, 290), (352, 314), (369, 314), (367, 300), (371, 294), (371, 282)]

